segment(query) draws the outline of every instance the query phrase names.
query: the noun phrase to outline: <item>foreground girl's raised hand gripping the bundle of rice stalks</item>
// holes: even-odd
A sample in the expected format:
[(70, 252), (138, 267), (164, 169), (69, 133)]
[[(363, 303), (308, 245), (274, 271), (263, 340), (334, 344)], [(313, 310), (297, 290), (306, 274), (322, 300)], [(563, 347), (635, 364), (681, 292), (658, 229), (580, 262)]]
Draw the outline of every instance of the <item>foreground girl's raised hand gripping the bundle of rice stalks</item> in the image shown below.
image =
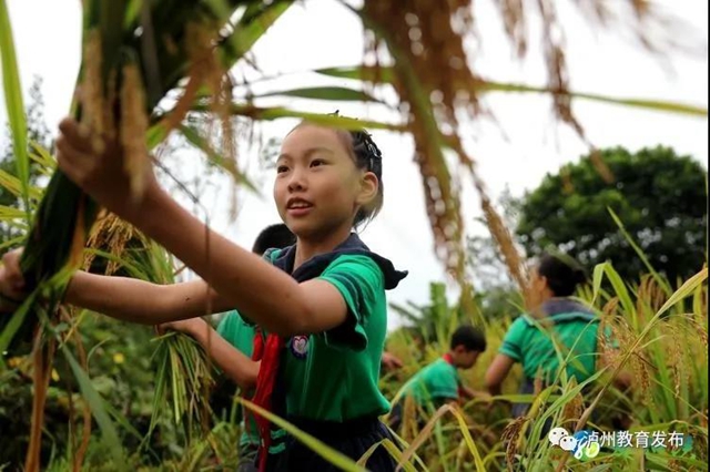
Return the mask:
[[(141, 174), (136, 178), (143, 183), (143, 193), (132, 195), (125, 171), (126, 156), (118, 141), (94, 135), (72, 119), (64, 119), (59, 130), (57, 161), (62, 172), (100, 205), (132, 222), (140, 214), (140, 204), (148, 193), (158, 188), (151, 163), (136, 166)], [(146, 160), (148, 153), (130, 157)]]

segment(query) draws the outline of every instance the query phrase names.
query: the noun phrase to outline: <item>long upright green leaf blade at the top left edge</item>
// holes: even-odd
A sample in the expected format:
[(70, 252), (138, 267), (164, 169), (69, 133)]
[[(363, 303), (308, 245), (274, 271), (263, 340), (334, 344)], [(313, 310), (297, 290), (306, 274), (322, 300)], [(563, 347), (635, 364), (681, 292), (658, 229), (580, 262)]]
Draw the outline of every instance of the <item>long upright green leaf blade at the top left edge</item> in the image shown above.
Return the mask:
[(27, 146), (27, 117), (22, 101), (22, 85), (14, 53), (12, 25), (4, 0), (0, 0), (0, 64), (2, 64), (2, 88), (12, 133), (12, 151), (17, 167), (27, 222), (30, 216), (30, 160)]

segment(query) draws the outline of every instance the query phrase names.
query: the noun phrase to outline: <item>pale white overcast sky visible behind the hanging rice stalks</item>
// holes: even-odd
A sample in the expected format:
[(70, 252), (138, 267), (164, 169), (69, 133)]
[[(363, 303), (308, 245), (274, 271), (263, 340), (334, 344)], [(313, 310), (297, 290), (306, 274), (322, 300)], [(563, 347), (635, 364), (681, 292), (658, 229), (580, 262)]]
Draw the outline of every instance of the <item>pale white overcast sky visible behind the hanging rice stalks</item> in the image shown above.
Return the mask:
[[(485, 78), (499, 82), (544, 84), (539, 35), (530, 29), (529, 58), (519, 61), (505, 35), (495, 7), (496, 0), (475, 2), (475, 18), (480, 43), (473, 38), (469, 62)], [(21, 81), (28, 89), (32, 78), (43, 79), (45, 116), (53, 131), (68, 113), (80, 63), (79, 0), (8, 0), (17, 48)], [(619, 27), (590, 28), (576, 12), (571, 1), (557, 1), (565, 25), (571, 89), (618, 98), (667, 100), (708, 105), (708, 4), (697, 0), (658, 2), (683, 25), (678, 39), (699, 47), (694, 54), (673, 53), (660, 61), (625, 37)], [(618, 2), (620, 3), (620, 2)], [(39, 14), (38, 14), (39, 13)], [(362, 62), (364, 40), (358, 19), (334, 0), (307, 0), (293, 7), (260, 40), (254, 57), (261, 70), (276, 80), (255, 85), (291, 89), (313, 84), (352, 86), (347, 81), (325, 81), (310, 70), (355, 65)], [(262, 89), (258, 89), (258, 88)], [(263, 89), (265, 88), (265, 89)], [(276, 103), (276, 102), (270, 102)], [(318, 102), (281, 101), (303, 111), (333, 112), (332, 105)], [(542, 95), (489, 94), (485, 103), (496, 121), (479, 120), (470, 126), (466, 144), (475, 156), (489, 194), (495, 198), (505, 189), (514, 196), (535, 188), (547, 173), (562, 164), (576, 162), (587, 152), (584, 142), (568, 127), (555, 122), (551, 101)], [(0, 123), (6, 121), (4, 99), (0, 94)], [(393, 119), (392, 114), (356, 103), (338, 104), (341, 114), (372, 120)], [(621, 145), (632, 151), (645, 146), (668, 145), (680, 154), (708, 161), (708, 123), (706, 117), (689, 117), (661, 112), (576, 101), (574, 112), (588, 138), (598, 147)], [(283, 120), (261, 129), (266, 138), (281, 138), (294, 121)], [(399, 287), (388, 294), (398, 304), (426, 304), (430, 281), (445, 280), (443, 266), (435, 257), (432, 230), (424, 206), (418, 168), (413, 161), (408, 136), (374, 132), (384, 155), (383, 182), (385, 204), (381, 215), (362, 234), (371, 248), (409, 270)], [(0, 140), (4, 140), (3, 135)], [(0, 145), (7, 143), (1, 142)], [(258, 232), (277, 223), (278, 214), (271, 197), (273, 171), (258, 165), (256, 146), (240, 142), (240, 165), (260, 187), (261, 196), (237, 193), (237, 217), (230, 218), (230, 183), (215, 178), (202, 198), (204, 218), (211, 226), (245, 247), (251, 247)], [(199, 172), (200, 156), (182, 152), (178, 174)], [(195, 171), (197, 170), (197, 171)], [(193, 172), (193, 173), (194, 173)], [(672, 176), (669, 176), (672, 177)], [(181, 202), (187, 204), (184, 196)], [(467, 184), (463, 193), (467, 232), (483, 234), (471, 224), (480, 215), (479, 201)], [(455, 288), (450, 288), (452, 294)], [(398, 325), (390, 317), (390, 328)]]

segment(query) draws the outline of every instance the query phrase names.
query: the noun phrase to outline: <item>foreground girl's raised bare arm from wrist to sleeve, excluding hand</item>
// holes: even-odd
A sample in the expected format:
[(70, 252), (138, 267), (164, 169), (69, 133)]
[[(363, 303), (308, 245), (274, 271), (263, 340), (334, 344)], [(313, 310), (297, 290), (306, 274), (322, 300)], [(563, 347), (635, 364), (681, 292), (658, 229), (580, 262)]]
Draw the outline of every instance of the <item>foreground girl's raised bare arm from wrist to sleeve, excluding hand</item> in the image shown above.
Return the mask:
[(270, 332), (321, 332), (347, 317), (345, 300), (333, 285), (318, 279), (298, 284), (260, 256), (207, 229), (159, 187), (144, 199), (131, 223), (209, 281), (231, 308)]

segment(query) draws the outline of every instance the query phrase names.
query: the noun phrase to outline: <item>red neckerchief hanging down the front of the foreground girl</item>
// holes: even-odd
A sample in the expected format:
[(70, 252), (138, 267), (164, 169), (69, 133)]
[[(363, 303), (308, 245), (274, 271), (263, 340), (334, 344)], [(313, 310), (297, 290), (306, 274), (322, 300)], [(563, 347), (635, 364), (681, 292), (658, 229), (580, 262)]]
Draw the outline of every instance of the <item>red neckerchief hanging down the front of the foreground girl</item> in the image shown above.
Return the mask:
[[(252, 402), (266, 411), (272, 411), (271, 398), (276, 382), (276, 373), (278, 372), (278, 359), (281, 350), (284, 347), (284, 339), (276, 335), (267, 335), (266, 340), (262, 336), (261, 329), (256, 330), (254, 336), (254, 350), (252, 360), (261, 360), (258, 376), (256, 377), (256, 391)], [(266, 470), (266, 456), (268, 455), (268, 447), (271, 445), (271, 423), (261, 414), (253, 413), (254, 420), (258, 428), (258, 434), (262, 439), (258, 445), (258, 470)]]

